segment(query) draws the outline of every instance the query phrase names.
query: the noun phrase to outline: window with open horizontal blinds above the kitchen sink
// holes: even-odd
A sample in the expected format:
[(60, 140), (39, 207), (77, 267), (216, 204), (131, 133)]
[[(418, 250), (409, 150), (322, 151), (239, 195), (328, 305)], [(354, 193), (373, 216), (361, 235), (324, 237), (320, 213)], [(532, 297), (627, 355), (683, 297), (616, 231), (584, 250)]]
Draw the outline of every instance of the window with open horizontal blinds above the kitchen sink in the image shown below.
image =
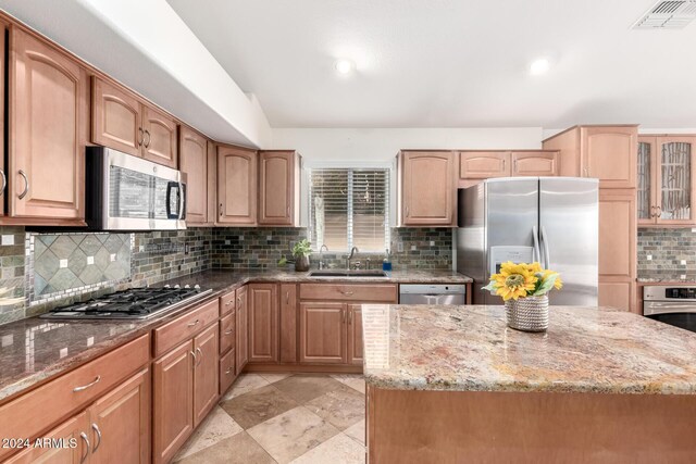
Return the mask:
[(389, 170), (323, 168), (309, 173), (310, 240), (315, 250), (389, 248)]

